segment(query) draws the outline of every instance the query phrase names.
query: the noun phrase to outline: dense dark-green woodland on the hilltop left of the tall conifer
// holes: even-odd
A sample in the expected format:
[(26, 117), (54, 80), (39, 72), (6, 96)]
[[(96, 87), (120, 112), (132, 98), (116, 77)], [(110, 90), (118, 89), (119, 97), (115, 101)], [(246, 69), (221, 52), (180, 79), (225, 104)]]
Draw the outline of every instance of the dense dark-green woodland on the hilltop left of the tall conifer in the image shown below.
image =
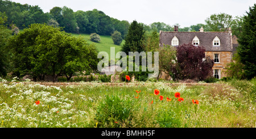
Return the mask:
[(0, 12), (7, 16), (7, 26), (15, 24), (19, 29), (34, 23), (55, 23), (69, 33), (97, 33), (111, 35), (114, 31), (121, 33), (124, 38), (130, 23), (126, 20), (110, 18), (102, 11), (76, 11), (64, 6), (53, 7), (44, 13), (38, 6), (21, 5), (11, 1), (0, 0)]

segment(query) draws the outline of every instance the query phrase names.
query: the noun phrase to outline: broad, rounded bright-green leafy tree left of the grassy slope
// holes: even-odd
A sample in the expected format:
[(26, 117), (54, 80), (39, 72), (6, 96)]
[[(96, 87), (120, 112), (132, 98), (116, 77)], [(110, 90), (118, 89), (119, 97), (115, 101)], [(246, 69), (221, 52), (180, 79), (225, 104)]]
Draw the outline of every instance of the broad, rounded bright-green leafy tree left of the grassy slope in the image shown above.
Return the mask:
[(12, 37), (16, 71), (22, 75), (52, 75), (52, 81), (64, 74), (68, 80), (78, 71), (96, 70), (97, 49), (82, 38), (60, 31), (46, 24), (32, 24)]

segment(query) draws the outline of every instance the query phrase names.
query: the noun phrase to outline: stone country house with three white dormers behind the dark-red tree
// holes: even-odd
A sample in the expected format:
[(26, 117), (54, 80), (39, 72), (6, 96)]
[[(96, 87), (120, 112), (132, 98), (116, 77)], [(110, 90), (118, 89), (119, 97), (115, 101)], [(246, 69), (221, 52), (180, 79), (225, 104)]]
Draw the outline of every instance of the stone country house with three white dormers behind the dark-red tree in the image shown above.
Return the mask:
[(204, 32), (203, 27), (199, 32), (163, 32), (160, 31), (159, 47), (163, 45), (177, 46), (192, 43), (195, 46), (205, 47), (205, 55), (214, 60), (213, 77), (221, 79), (226, 77), (226, 64), (232, 62), (234, 51), (238, 43), (237, 37), (232, 36), (232, 30), (227, 32)]

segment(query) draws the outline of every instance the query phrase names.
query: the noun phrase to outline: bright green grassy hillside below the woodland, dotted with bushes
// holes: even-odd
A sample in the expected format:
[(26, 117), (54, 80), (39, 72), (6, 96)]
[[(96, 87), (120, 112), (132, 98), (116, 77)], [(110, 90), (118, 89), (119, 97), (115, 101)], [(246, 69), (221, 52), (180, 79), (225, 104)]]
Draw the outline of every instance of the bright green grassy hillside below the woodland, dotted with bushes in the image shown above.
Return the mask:
[(101, 36), (101, 41), (99, 43), (95, 43), (93, 41), (90, 41), (90, 35), (89, 34), (72, 33), (72, 36), (80, 36), (80, 35), (82, 37), (84, 37), (85, 40), (87, 40), (88, 43), (96, 44), (96, 47), (99, 50), (99, 52), (101, 52), (101, 51), (107, 52), (109, 54), (109, 58), (110, 58), (110, 47), (115, 47), (115, 54), (116, 54), (117, 52), (119, 52), (121, 50), (122, 45), (125, 44), (125, 40), (123, 40), (120, 45), (115, 45), (113, 43), (113, 40), (112, 40), (111, 36), (104, 36), (104, 35), (100, 35)]

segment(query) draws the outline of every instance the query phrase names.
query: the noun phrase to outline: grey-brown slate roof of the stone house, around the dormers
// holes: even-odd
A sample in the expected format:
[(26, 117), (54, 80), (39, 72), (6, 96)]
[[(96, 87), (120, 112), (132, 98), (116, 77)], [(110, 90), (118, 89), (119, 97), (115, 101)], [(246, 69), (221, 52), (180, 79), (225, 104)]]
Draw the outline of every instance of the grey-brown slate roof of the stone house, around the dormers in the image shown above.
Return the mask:
[[(229, 32), (162, 32), (160, 31), (159, 44), (160, 47), (165, 45), (171, 45), (172, 38), (176, 36), (179, 39), (179, 45), (192, 43), (192, 40), (197, 36), (200, 40), (199, 46), (205, 47), (206, 51), (231, 51), (232, 48), (232, 37)], [(214, 37), (220, 39), (220, 47), (213, 47)]]

